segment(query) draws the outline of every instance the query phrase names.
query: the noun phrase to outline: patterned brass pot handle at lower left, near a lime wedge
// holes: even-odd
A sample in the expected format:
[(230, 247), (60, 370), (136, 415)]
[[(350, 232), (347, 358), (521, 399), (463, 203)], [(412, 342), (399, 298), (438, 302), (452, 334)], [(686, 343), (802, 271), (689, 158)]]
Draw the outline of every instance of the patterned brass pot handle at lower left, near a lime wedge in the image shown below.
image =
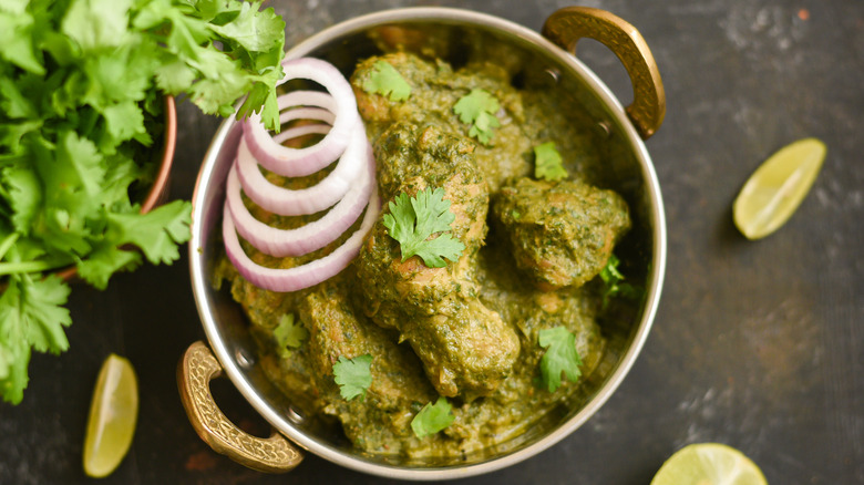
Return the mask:
[(181, 401), (198, 436), (214, 451), (261, 472), (284, 473), (300, 464), (302, 454), (281, 434), (253, 436), (223, 414), (209, 386), (219, 374), (222, 365), (204, 342), (189, 345), (177, 368)]

